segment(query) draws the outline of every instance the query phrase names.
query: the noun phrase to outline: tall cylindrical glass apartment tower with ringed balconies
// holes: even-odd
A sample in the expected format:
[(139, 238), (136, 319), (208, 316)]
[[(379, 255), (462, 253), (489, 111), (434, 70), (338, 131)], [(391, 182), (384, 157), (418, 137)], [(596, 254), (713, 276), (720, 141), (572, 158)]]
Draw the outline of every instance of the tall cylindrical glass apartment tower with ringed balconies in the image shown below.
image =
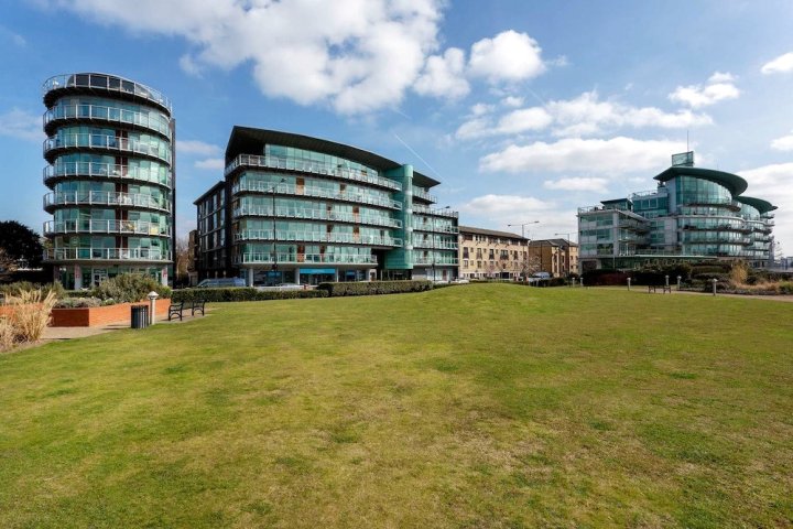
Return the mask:
[(45, 261), (67, 289), (121, 272), (169, 281), (174, 120), (160, 91), (107, 74), (44, 83)]

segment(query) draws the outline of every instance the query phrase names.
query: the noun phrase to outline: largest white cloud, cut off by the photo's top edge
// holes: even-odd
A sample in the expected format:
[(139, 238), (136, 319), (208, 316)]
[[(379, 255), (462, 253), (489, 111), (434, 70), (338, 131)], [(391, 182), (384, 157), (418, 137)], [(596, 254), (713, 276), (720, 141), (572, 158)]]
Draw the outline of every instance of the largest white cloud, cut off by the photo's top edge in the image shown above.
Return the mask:
[[(48, 0), (100, 23), (186, 39), (193, 74), (250, 63), (260, 90), (343, 114), (400, 102), (437, 48), (442, 0)], [(459, 88), (457, 88), (459, 89)]]

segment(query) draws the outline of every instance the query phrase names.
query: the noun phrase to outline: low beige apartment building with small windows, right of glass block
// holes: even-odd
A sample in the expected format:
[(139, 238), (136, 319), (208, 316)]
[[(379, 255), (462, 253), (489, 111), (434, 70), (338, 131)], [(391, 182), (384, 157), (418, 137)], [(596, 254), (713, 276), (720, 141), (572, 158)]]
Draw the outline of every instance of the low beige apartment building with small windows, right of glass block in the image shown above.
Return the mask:
[(520, 235), (460, 226), (458, 240), (460, 278), (519, 280), (535, 271)]

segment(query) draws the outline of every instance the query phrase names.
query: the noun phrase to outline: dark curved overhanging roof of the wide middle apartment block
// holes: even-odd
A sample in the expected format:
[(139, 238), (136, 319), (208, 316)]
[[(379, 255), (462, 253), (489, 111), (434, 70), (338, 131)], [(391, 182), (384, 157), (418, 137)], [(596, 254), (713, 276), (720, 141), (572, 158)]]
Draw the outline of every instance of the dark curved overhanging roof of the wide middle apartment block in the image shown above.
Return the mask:
[[(335, 141), (312, 138), (309, 136), (283, 132), (280, 130), (254, 129), (252, 127), (235, 126), (226, 147), (226, 165), (239, 154), (261, 154), (265, 143), (295, 147), (308, 151), (323, 152), (335, 156), (360, 162), (379, 171), (401, 168), (403, 164), (389, 160), (373, 152), (365, 151), (352, 145), (336, 143)], [(413, 171), (413, 182), (421, 187), (433, 187), (441, 182)]]

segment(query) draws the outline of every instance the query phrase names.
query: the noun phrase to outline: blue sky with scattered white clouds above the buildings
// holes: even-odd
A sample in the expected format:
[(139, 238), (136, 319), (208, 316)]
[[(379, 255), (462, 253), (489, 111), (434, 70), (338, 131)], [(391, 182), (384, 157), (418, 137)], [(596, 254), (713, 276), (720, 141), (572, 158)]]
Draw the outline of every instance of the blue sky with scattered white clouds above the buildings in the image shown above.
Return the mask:
[(460, 224), (534, 239), (689, 145), (793, 255), (791, 28), (790, 0), (0, 0), (0, 219), (47, 219), (44, 80), (104, 72), (173, 104), (180, 234), (240, 125), (412, 164)]

